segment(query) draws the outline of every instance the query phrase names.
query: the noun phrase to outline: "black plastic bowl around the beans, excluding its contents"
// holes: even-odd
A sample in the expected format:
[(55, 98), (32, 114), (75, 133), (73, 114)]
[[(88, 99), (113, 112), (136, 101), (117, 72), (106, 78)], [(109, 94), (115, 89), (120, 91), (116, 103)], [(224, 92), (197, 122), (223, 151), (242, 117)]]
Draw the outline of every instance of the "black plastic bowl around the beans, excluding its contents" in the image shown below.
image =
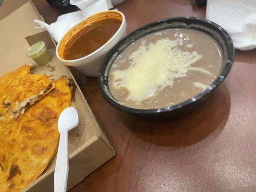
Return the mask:
[[(165, 107), (165, 108), (157, 108), (157, 109), (136, 109), (136, 108), (129, 108), (119, 104), (115, 98), (111, 95), (109, 89), (109, 71), (110, 66), (112, 65), (113, 61), (118, 57), (118, 55), (131, 43), (135, 40), (141, 38), (142, 36), (146, 36), (150, 33), (168, 29), (168, 28), (181, 28), (181, 27), (188, 27), (197, 29), (200, 31), (205, 32), (206, 34), (212, 36), (220, 45), (223, 51), (223, 60), (222, 60), (222, 70), (216, 78), (216, 80), (210, 84), (206, 90), (202, 91), (200, 94), (193, 96), (192, 98), (179, 103), (177, 105)], [(207, 48), (207, 45), (206, 45)], [(235, 50), (233, 47), (232, 39), (228, 35), (228, 33), (220, 27), (218, 24), (215, 24), (211, 21), (195, 18), (195, 17), (176, 17), (170, 19), (160, 20), (151, 24), (147, 24), (128, 36), (124, 37), (120, 40), (115, 47), (113, 47), (110, 52), (107, 54), (103, 63), (100, 67), (98, 73), (98, 86), (100, 89), (101, 94), (103, 97), (112, 105), (113, 107), (122, 110), (127, 113), (138, 114), (142, 116), (147, 115), (161, 115), (161, 116), (168, 116), (170, 118), (179, 117), (187, 112), (198, 108), (203, 101), (212, 93), (214, 89), (216, 89), (219, 84), (221, 84), (224, 79), (227, 77), (228, 73), (231, 70), (232, 63), (234, 60)]]

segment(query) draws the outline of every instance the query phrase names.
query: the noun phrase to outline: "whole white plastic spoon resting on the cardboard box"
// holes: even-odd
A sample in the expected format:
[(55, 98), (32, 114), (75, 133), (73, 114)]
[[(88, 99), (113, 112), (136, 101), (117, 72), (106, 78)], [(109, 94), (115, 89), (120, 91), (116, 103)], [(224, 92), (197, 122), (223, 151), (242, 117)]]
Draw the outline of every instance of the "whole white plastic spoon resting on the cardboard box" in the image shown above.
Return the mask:
[(68, 180), (68, 131), (78, 125), (78, 114), (75, 108), (65, 108), (58, 120), (61, 133), (57, 160), (54, 172), (54, 192), (66, 192)]

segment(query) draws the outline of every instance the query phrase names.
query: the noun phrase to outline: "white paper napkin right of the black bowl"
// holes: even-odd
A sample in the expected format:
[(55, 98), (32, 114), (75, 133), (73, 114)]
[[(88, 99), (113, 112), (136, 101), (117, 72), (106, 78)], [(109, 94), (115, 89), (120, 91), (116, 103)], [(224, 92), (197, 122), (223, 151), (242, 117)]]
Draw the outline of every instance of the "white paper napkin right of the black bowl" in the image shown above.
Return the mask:
[(235, 48), (256, 48), (256, 0), (207, 0), (206, 18), (230, 34)]

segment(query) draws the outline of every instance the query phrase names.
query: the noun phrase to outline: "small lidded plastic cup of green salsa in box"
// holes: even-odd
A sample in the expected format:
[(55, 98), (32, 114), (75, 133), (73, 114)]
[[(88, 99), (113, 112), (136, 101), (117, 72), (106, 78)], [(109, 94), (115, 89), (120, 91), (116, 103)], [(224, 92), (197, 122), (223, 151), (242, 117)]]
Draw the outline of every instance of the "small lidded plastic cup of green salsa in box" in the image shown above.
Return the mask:
[(36, 61), (38, 65), (45, 65), (52, 59), (52, 56), (47, 49), (47, 44), (44, 41), (38, 41), (28, 48), (26, 56)]

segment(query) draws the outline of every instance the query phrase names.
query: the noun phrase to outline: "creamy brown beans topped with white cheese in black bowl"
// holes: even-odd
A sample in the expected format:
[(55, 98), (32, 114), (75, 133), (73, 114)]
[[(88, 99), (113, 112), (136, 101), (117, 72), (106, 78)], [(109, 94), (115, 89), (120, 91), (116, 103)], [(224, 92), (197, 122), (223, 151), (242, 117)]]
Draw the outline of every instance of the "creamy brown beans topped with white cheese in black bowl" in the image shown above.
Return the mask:
[(222, 51), (207, 34), (189, 28), (136, 40), (113, 62), (112, 96), (130, 108), (164, 108), (198, 95), (219, 75)]

